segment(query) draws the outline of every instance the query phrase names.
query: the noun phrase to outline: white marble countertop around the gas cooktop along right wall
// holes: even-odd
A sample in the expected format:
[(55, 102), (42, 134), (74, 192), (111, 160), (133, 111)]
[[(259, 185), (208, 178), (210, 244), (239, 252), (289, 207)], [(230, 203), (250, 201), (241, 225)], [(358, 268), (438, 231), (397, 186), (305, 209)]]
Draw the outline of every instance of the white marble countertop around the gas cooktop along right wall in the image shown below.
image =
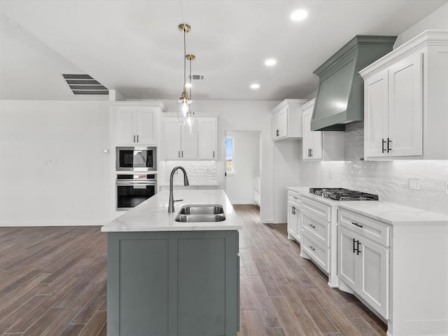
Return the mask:
[[(448, 215), (433, 211), (407, 207), (405, 205), (379, 201), (335, 201), (309, 193), (309, 187), (287, 187), (302, 196), (325, 204), (363, 214), (391, 225), (412, 223), (441, 223), (448, 225)], [(336, 187), (337, 188), (337, 187)]]

